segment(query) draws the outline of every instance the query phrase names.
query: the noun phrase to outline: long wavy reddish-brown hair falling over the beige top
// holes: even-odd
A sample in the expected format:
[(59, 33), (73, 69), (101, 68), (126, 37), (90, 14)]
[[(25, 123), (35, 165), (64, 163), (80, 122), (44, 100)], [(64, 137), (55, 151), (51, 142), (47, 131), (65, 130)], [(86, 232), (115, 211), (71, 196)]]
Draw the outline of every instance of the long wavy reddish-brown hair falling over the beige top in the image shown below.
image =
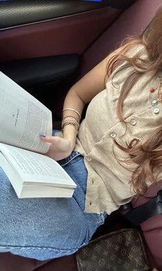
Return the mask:
[[(128, 56), (126, 56), (126, 53), (138, 44), (146, 47), (148, 51), (147, 59), (142, 60), (140, 58), (128, 58)], [(141, 36), (128, 38), (118, 49), (117, 54), (110, 58), (107, 65), (108, 77), (123, 60), (126, 60), (124, 67), (134, 67), (132, 73), (122, 86), (117, 102), (117, 116), (120, 121), (126, 123), (122, 108), (124, 99), (132, 86), (139, 80), (143, 73), (148, 71), (154, 71), (155, 73), (162, 71), (162, 5)], [(131, 180), (135, 191), (137, 193), (146, 193), (148, 188), (146, 180), (155, 182), (162, 169), (162, 123), (157, 130), (150, 134), (147, 141), (140, 142), (139, 139), (133, 139), (130, 143), (126, 143), (126, 146), (119, 145), (117, 141), (115, 141), (115, 144), (128, 154), (129, 162), (137, 165), (132, 172)]]

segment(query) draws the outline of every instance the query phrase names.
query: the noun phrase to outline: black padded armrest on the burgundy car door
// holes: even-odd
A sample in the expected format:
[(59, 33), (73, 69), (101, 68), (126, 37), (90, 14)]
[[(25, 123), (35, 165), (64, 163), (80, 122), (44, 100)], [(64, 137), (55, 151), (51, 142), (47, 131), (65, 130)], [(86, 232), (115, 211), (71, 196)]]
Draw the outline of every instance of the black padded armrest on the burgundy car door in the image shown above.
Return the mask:
[(0, 70), (24, 88), (40, 87), (69, 78), (78, 69), (78, 62), (77, 54), (47, 56), (0, 62)]

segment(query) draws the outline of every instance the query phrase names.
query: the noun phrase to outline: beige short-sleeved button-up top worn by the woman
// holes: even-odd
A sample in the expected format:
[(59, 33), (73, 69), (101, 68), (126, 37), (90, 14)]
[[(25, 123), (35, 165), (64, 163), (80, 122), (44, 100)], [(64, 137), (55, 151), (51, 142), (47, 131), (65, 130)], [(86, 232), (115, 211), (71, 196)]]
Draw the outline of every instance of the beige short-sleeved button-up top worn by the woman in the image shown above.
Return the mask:
[[(137, 45), (128, 56), (147, 58), (146, 49), (143, 45)], [(84, 156), (88, 171), (84, 209), (88, 213), (110, 214), (135, 195), (130, 182), (131, 170), (135, 169), (135, 165), (124, 163), (123, 166), (119, 162), (124, 161), (127, 154), (117, 148), (114, 139), (124, 146), (135, 138), (145, 140), (162, 123), (162, 105), (151, 104), (152, 100), (158, 99), (156, 79), (159, 76), (152, 72), (141, 75), (124, 100), (123, 114), (128, 122), (127, 130), (124, 123), (119, 121), (116, 112), (119, 93), (134, 69), (126, 67), (116, 73), (124, 65), (126, 62), (123, 61), (108, 79), (106, 89), (90, 102), (76, 139), (75, 150)], [(155, 89), (154, 93), (149, 91), (151, 88)]]

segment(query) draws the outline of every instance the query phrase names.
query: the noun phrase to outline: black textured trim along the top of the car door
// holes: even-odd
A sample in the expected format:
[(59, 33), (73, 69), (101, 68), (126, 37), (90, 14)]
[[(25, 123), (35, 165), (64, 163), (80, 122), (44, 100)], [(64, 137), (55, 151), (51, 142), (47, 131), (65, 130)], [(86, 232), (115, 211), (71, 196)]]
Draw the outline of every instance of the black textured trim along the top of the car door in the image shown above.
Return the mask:
[(46, 21), (112, 6), (124, 9), (135, 0), (14, 0), (0, 1), (0, 29)]

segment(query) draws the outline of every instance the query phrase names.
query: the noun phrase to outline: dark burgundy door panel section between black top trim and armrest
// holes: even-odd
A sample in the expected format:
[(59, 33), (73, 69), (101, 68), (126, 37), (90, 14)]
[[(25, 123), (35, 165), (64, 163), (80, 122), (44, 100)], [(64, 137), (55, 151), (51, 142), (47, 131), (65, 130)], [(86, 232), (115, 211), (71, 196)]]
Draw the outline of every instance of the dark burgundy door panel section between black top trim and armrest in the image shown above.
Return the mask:
[(0, 60), (82, 54), (119, 13), (108, 7), (1, 30)]

